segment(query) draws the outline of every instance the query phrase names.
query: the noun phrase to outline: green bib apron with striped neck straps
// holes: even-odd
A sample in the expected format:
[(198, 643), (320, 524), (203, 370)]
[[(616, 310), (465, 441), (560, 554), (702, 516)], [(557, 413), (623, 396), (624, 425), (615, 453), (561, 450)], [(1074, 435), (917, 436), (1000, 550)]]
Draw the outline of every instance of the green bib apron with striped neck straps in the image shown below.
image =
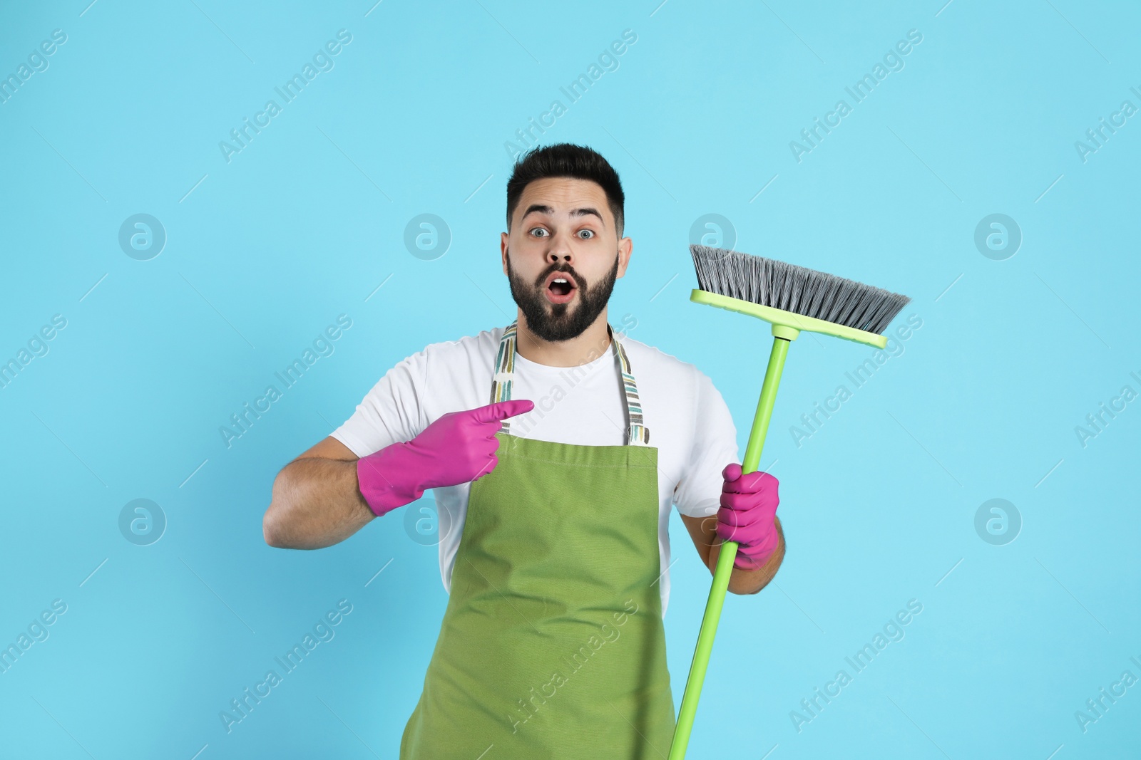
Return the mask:
[[(674, 710), (665, 661), (657, 449), (622, 368), (626, 446), (496, 438), (471, 484), (451, 596), (402, 760), (664, 758)], [(492, 402), (511, 398), (516, 322)]]

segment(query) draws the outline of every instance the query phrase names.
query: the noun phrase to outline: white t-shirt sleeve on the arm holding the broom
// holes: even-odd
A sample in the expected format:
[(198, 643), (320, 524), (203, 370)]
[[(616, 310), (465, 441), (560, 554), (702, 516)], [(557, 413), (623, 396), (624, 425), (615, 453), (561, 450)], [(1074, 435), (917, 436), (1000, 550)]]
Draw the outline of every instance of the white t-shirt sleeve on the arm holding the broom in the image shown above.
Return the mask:
[(693, 450), (677, 488), (673, 502), (678, 512), (689, 517), (717, 514), (721, 505), (721, 471), (731, 461), (739, 463), (737, 427), (721, 393), (696, 367)]

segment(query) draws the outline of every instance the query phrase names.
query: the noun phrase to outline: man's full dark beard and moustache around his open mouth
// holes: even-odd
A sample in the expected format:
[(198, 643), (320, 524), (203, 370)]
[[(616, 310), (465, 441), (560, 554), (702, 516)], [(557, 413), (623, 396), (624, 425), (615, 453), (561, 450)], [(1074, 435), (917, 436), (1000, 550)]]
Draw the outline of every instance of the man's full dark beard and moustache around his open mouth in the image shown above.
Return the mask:
[[(551, 303), (543, 294), (543, 283), (551, 272), (565, 272), (574, 279), (575, 297), (567, 303)], [(511, 297), (523, 311), (527, 327), (544, 341), (569, 341), (578, 337), (594, 324), (606, 309), (618, 276), (618, 256), (615, 252), (614, 267), (597, 283), (590, 284), (569, 264), (552, 264), (543, 270), (534, 283), (526, 283), (511, 269), (510, 251), (507, 256), (507, 277), (511, 285)]]

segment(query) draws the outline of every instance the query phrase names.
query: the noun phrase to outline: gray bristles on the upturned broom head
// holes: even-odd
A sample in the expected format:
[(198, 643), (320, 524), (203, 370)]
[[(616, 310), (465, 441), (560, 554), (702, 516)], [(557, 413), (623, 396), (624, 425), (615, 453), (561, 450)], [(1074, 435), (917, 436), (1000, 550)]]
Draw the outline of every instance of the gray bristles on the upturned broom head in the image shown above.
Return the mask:
[(883, 334), (911, 299), (856, 280), (728, 248), (690, 245), (703, 291)]

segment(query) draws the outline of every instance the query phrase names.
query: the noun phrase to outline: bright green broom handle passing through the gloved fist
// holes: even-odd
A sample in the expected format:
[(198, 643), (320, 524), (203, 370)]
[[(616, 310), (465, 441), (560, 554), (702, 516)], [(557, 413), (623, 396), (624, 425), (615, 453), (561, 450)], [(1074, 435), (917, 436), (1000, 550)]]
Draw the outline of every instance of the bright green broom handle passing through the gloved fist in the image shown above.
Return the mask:
[[(778, 326), (774, 326), (774, 333)], [(792, 340), (796, 332), (792, 330)], [(756, 415), (753, 417), (753, 430), (748, 433), (748, 446), (745, 448), (745, 460), (741, 465), (742, 474), (756, 472), (761, 464), (761, 449), (764, 448), (764, 434), (769, 430), (772, 417), (772, 404), (777, 399), (777, 385), (780, 384), (780, 371), (784, 369), (785, 356), (788, 353), (790, 338), (775, 337), (772, 352), (769, 353), (769, 367), (764, 370), (764, 384), (761, 386), (761, 398), (756, 402)], [(729, 588), (729, 575), (733, 574), (733, 561), (737, 556), (737, 542), (721, 544), (717, 571), (713, 573), (713, 587), (710, 589), (709, 602), (705, 603), (705, 615), (702, 618), (702, 629), (697, 635), (697, 649), (694, 662), (689, 667), (689, 678), (686, 680), (686, 692), (681, 697), (681, 710), (678, 724), (673, 729), (673, 743), (670, 745), (669, 760), (682, 760), (686, 746), (689, 744), (689, 732), (694, 727), (697, 714), (697, 700), (701, 698), (702, 683), (705, 680), (705, 669), (713, 651), (713, 637), (717, 635), (717, 623), (721, 619), (721, 606)]]

